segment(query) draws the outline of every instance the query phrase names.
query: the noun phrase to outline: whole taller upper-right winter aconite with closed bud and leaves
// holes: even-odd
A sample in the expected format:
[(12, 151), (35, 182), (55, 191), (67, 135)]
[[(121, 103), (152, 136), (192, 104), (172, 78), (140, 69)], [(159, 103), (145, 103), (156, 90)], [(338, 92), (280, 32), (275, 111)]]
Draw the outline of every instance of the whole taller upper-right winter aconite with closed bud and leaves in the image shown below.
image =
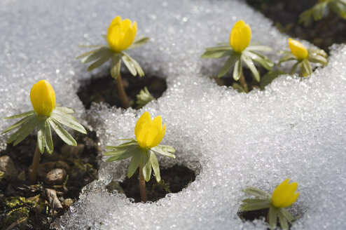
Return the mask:
[[(247, 82), (242, 71), (245, 64), (256, 81), (260, 81), (260, 74), (255, 65), (261, 65), (265, 69), (272, 69), (274, 64), (272, 61), (262, 55), (261, 51), (271, 51), (267, 46), (259, 46), (250, 44), (251, 28), (243, 20), (235, 22), (230, 32), (230, 41), (228, 43), (219, 43), (220, 46), (206, 48), (201, 58), (219, 58), (228, 57), (225, 64), (221, 68), (218, 77), (225, 76), (233, 67), (233, 79), (239, 81), (240, 85), (233, 83), (233, 88), (240, 89), (246, 93), (249, 92)], [(239, 86), (239, 87), (238, 87)]]

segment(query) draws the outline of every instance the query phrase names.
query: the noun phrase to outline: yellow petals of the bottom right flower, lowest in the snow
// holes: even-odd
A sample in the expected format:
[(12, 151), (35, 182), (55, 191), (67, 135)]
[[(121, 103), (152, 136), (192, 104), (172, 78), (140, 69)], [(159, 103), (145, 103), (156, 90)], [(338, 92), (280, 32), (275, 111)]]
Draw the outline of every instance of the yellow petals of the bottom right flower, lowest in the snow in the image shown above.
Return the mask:
[(272, 193), (272, 205), (276, 208), (289, 207), (299, 196), (299, 193), (294, 194), (297, 187), (297, 182), (289, 184), (289, 179), (284, 180)]

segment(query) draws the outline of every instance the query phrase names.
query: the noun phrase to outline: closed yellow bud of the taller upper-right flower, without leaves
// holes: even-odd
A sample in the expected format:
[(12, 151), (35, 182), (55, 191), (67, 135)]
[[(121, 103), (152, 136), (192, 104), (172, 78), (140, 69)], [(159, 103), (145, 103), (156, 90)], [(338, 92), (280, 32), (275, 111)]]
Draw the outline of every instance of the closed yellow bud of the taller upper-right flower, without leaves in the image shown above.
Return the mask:
[(251, 40), (251, 28), (245, 24), (243, 20), (235, 22), (235, 25), (230, 32), (230, 46), (237, 53), (242, 53), (242, 50), (249, 46)]

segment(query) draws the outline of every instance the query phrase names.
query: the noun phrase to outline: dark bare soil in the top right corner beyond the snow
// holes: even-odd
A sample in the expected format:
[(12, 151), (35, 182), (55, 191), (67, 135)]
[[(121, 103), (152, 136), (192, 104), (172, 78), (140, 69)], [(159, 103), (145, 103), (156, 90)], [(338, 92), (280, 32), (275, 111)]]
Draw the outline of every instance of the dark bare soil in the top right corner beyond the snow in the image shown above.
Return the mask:
[(300, 13), (314, 6), (317, 0), (247, 0), (247, 3), (270, 18), (281, 32), (310, 41), (327, 53), (333, 43), (346, 42), (346, 20), (335, 13), (317, 22), (311, 20), (307, 27), (299, 24)]

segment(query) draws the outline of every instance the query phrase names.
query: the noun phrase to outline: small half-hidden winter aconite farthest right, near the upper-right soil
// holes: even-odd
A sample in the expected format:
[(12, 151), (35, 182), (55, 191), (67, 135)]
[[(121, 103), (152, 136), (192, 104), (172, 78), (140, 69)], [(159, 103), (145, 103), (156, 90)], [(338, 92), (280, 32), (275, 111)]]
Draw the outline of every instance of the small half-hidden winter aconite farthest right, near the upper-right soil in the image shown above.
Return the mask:
[(289, 50), (282, 50), (284, 57), (279, 60), (279, 65), (282, 62), (296, 60), (296, 63), (291, 67), (289, 74), (294, 74), (297, 67), (300, 67), (300, 76), (309, 76), (312, 74), (310, 62), (317, 63), (321, 66), (328, 64), (328, 55), (324, 50), (313, 48), (306, 49), (299, 41), (289, 39)]

